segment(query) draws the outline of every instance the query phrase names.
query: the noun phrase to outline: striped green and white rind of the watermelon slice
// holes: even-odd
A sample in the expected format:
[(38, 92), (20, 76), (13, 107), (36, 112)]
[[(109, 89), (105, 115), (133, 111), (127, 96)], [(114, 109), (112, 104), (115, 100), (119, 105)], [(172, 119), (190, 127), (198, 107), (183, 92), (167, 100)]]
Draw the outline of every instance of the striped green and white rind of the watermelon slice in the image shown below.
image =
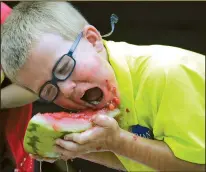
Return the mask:
[[(109, 111), (106, 115), (110, 117), (116, 117), (120, 114), (119, 109)], [(55, 131), (51, 124), (42, 118), (41, 115), (35, 115), (30, 120), (25, 136), (24, 136), (24, 149), (26, 152), (39, 155), (47, 158), (59, 158), (59, 154), (55, 153), (54, 145), (55, 140), (63, 138), (64, 135), (69, 133), (80, 133), (92, 127), (92, 124), (88, 122), (88, 125), (82, 128), (72, 128), (67, 131)]]

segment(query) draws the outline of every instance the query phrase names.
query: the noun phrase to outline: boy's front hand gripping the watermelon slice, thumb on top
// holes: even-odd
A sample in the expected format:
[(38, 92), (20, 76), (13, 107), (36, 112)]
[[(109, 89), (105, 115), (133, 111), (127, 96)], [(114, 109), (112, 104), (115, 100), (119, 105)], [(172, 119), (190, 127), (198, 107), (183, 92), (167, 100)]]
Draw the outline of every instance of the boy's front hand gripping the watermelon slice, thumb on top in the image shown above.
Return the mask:
[(91, 152), (112, 151), (118, 143), (120, 128), (114, 118), (96, 115), (92, 118), (94, 127), (83, 133), (72, 133), (64, 140), (56, 140), (56, 151), (64, 160), (73, 159)]

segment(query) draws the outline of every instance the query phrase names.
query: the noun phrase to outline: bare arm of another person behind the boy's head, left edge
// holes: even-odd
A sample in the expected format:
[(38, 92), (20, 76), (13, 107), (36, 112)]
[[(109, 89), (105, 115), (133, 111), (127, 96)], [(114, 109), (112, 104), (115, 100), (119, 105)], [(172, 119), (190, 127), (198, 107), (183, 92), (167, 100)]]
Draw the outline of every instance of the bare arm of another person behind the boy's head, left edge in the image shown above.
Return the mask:
[(15, 84), (1, 89), (1, 109), (20, 107), (37, 99), (36, 95)]

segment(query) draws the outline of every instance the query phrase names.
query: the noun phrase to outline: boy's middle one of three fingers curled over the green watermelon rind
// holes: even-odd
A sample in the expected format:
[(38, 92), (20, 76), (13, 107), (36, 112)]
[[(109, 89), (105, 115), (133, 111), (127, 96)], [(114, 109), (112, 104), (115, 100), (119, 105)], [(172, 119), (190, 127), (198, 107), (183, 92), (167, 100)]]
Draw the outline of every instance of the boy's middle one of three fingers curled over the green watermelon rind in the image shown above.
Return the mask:
[(61, 146), (62, 148), (72, 151), (72, 152), (78, 152), (79, 151), (79, 145), (77, 143), (71, 142), (71, 141), (65, 141), (62, 139), (57, 139), (56, 144)]

